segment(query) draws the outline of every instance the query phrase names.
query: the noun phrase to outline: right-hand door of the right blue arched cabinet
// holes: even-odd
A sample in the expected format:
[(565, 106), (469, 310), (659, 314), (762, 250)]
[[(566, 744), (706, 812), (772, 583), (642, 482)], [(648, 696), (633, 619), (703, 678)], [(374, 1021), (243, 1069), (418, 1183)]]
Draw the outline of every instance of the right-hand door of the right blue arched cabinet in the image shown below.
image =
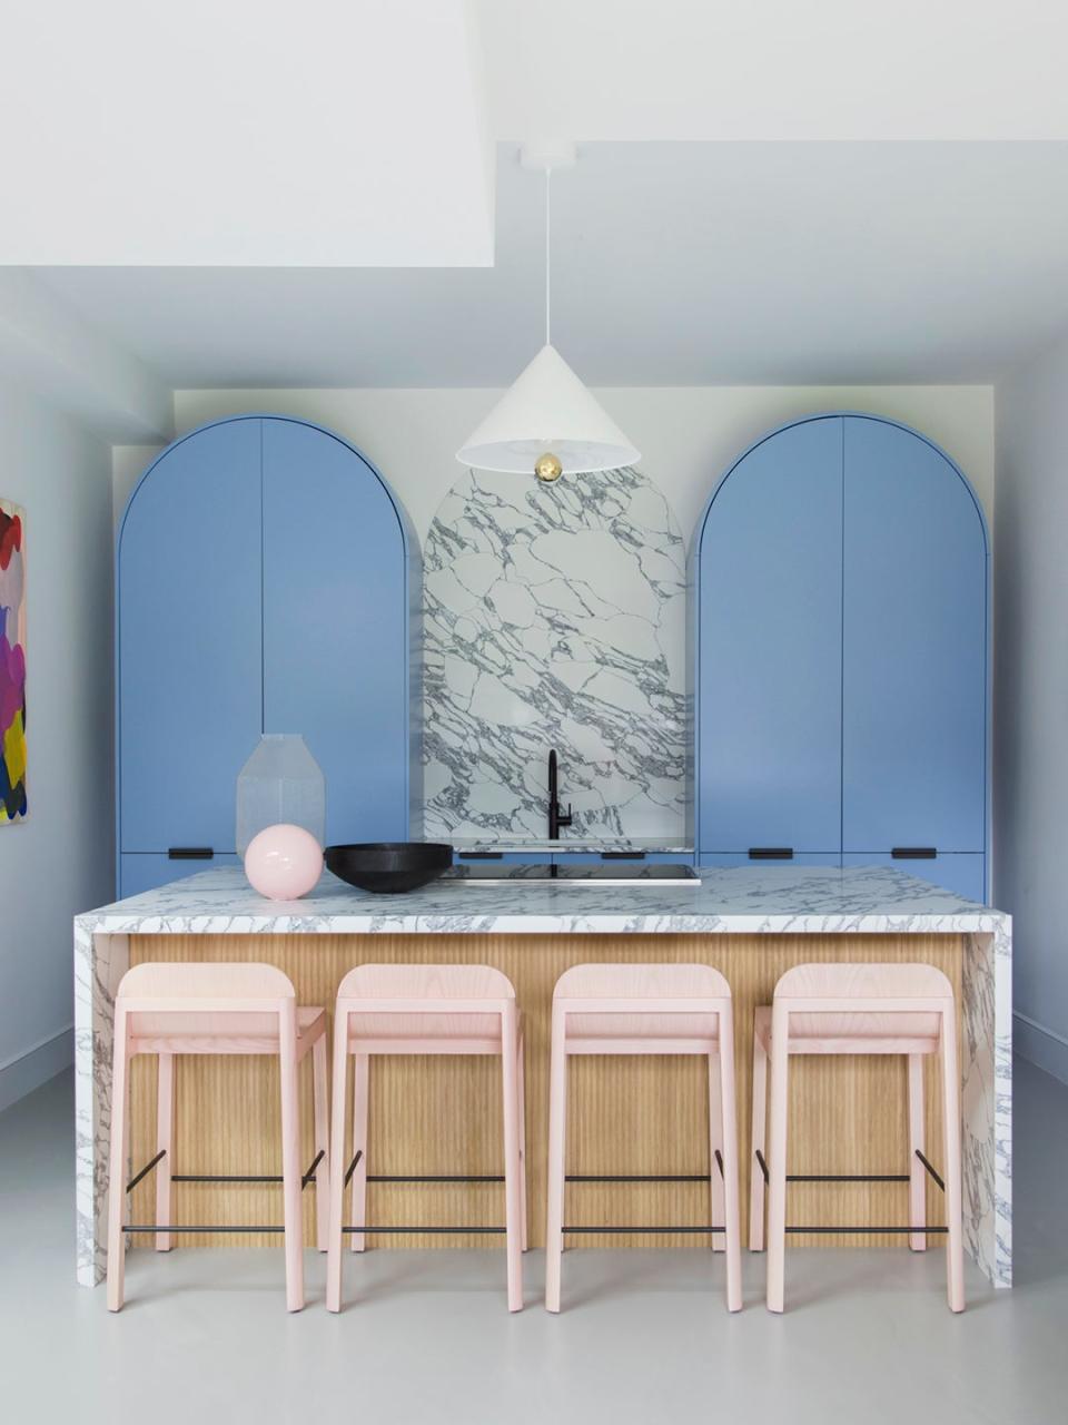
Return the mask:
[(844, 472), (843, 849), (981, 852), (983, 517), (938, 450), (884, 420), (846, 418)]

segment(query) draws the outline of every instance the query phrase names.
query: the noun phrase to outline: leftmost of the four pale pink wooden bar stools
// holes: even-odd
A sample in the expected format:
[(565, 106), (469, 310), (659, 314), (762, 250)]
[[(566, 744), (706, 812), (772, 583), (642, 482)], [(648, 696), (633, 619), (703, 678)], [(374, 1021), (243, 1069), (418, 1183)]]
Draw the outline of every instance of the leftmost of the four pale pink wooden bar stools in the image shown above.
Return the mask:
[[(111, 1089), (111, 1167), (108, 1196), (108, 1310), (124, 1300), (125, 1237), (154, 1233), (157, 1251), (169, 1251), (174, 1233), (204, 1227), (171, 1224), (171, 1183), (253, 1181), (231, 1174), (175, 1174), (172, 1171), (174, 1056), (175, 1054), (275, 1054), (282, 1073), (282, 1183), (285, 1227), (212, 1227), (208, 1231), (285, 1234), (286, 1307), (300, 1311), (303, 1288), (303, 1226), (300, 1194), (315, 1181), (319, 1251), (326, 1250), (329, 1210), (329, 1156), (326, 1100), (326, 1010), (298, 1009), (292, 982), (273, 965), (137, 965), (127, 970), (115, 995), (115, 1050)], [(315, 1161), (300, 1174), (300, 1110), (296, 1066), (313, 1053)], [(125, 1164), (130, 1134), (130, 1060), (158, 1054), (157, 1154), (130, 1181)], [(155, 1170), (155, 1223), (124, 1226), (127, 1194)], [(272, 1178), (271, 1181), (275, 1181)]]

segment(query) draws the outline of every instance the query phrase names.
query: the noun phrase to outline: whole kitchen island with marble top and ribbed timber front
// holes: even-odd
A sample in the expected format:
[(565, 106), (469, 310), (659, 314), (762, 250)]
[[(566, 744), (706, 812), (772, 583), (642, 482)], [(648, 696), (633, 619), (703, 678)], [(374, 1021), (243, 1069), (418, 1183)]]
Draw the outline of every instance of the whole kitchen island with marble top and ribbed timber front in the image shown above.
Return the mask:
[[(74, 923), (77, 1073), (77, 1275), (105, 1268), (111, 1120), (112, 996), (130, 965), (147, 959), (265, 960), (293, 980), (300, 1005), (333, 1005), (342, 975), (373, 960), (478, 962), (501, 969), (527, 1019), (530, 1240), (544, 1240), (548, 1017), (553, 985), (584, 960), (701, 960), (728, 978), (738, 1045), (742, 1220), (748, 1201), (752, 1012), (770, 1003), (779, 975), (803, 960), (924, 960), (950, 976), (961, 1022), (964, 1238), (995, 1285), (1011, 1284), (1011, 922), (889, 868), (702, 868), (699, 885), (467, 885), (439, 881), (402, 896), (373, 896), (325, 874), (299, 902), (265, 901), (241, 869), (206, 871), (88, 912)], [(132, 1080), (131, 1161), (154, 1149), (154, 1066)], [(386, 1060), (373, 1074), (369, 1168), (375, 1177), (494, 1174), (498, 1126), (493, 1063)], [(708, 1074), (696, 1062), (578, 1063), (570, 1096), (574, 1174), (678, 1174), (679, 1183), (574, 1183), (568, 1217), (698, 1224), (708, 1213)], [(792, 1173), (901, 1173), (907, 1167), (904, 1062), (813, 1057), (792, 1069)], [(191, 1059), (179, 1064), (175, 1170), (278, 1173), (276, 1066)], [(938, 1141), (937, 1070), (927, 1072), (928, 1141)], [(464, 1117), (464, 1104), (471, 1103)], [(305, 1133), (310, 1133), (305, 1104)], [(477, 1124), (471, 1129), (470, 1124)], [(308, 1140), (310, 1143), (310, 1139)], [(306, 1144), (308, 1146), (308, 1144)], [(312, 1154), (308, 1154), (310, 1163)], [(147, 1191), (147, 1184), (138, 1191)], [(375, 1183), (384, 1226), (501, 1220), (498, 1183)], [(308, 1241), (310, 1196), (306, 1194)], [(175, 1220), (281, 1220), (269, 1186), (184, 1184)], [(151, 1201), (135, 1221), (152, 1221)], [(805, 1223), (906, 1223), (900, 1183), (795, 1184), (790, 1216)], [(150, 1216), (140, 1216), (147, 1211)], [(928, 1221), (940, 1207), (931, 1193)], [(266, 1216), (265, 1216), (266, 1214)], [(185, 1238), (197, 1244), (197, 1237)], [(205, 1237), (218, 1243), (218, 1237)], [(249, 1235), (244, 1241), (271, 1241)], [(587, 1245), (692, 1245), (693, 1237), (582, 1237)], [(867, 1245), (881, 1238), (850, 1238)], [(134, 1240), (135, 1244), (140, 1238)], [(275, 1238), (276, 1241), (276, 1238)], [(379, 1245), (410, 1238), (379, 1237)], [(807, 1238), (795, 1237), (795, 1243)], [(813, 1238), (823, 1243), (826, 1238)], [(900, 1237), (884, 1238), (900, 1247)], [(436, 1244), (484, 1244), (463, 1231)]]

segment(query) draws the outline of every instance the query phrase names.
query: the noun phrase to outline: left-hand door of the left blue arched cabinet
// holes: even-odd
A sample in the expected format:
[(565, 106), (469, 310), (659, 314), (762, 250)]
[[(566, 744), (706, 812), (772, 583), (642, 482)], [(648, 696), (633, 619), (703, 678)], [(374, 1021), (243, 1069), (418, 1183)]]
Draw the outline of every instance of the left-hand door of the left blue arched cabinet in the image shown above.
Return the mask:
[(118, 546), (120, 851), (234, 851), (261, 730), (261, 422), (171, 446)]

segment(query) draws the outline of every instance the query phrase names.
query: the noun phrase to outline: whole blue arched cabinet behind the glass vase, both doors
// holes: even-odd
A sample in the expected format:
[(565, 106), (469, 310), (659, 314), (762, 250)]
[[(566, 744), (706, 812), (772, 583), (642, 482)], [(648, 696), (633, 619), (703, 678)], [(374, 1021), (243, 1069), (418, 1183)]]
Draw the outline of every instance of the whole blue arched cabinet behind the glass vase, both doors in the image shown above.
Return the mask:
[(164, 450), (118, 540), (121, 895), (236, 862), (262, 731), (303, 734), (329, 842), (419, 831), (419, 587), (402, 506), (330, 432), (235, 416)]

